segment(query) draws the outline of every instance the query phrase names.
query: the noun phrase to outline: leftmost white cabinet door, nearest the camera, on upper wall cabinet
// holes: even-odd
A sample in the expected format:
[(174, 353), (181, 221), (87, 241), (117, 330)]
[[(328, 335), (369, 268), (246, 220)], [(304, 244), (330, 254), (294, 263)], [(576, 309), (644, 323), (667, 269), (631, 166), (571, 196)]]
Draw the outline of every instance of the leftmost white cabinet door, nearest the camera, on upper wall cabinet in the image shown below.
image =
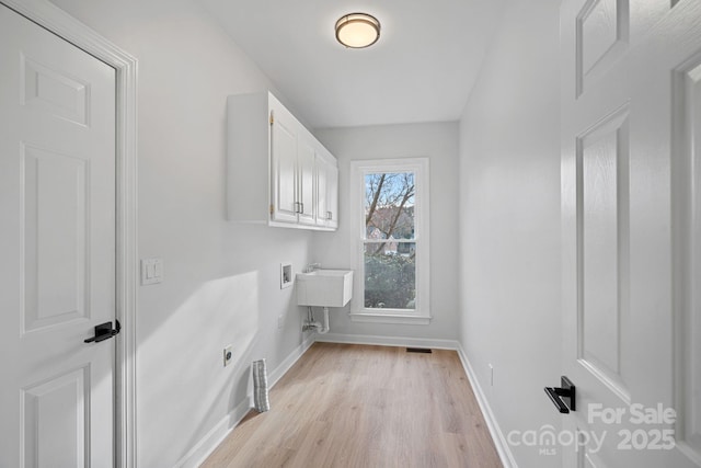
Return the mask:
[(271, 186), (274, 221), (297, 222), (297, 133), (287, 113), (273, 113), (271, 138)]

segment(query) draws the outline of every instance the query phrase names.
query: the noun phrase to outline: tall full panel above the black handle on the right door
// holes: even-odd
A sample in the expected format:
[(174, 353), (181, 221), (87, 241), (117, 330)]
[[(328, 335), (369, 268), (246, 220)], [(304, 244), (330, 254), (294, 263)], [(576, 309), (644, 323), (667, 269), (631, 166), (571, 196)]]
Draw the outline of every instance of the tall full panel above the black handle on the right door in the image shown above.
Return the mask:
[[(577, 361), (625, 404), (631, 403), (621, 356), (630, 309), (629, 113), (629, 103), (621, 105), (575, 144)], [(606, 236), (594, 236), (597, 231)]]

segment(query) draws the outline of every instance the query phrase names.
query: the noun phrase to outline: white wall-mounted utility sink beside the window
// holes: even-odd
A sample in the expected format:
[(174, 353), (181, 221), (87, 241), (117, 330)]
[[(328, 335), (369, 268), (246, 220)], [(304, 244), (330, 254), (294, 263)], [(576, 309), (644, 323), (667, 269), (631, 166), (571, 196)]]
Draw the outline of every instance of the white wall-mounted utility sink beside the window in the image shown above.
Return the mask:
[(299, 306), (343, 307), (353, 297), (353, 270), (297, 273)]

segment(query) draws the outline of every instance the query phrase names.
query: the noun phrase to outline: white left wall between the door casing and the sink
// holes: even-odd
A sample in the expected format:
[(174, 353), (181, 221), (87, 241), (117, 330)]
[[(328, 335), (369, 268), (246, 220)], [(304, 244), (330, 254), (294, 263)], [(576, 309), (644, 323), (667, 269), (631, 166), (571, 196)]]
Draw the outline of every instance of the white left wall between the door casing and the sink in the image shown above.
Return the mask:
[(163, 259), (164, 282), (139, 289), (138, 466), (172, 467), (245, 408), (252, 359), (274, 369), (302, 342), (303, 311), (292, 288), (279, 289), (279, 262), (301, 270), (312, 237), (225, 219), (226, 96), (269, 83), (200, 7), (55, 2), (139, 60), (138, 246)]

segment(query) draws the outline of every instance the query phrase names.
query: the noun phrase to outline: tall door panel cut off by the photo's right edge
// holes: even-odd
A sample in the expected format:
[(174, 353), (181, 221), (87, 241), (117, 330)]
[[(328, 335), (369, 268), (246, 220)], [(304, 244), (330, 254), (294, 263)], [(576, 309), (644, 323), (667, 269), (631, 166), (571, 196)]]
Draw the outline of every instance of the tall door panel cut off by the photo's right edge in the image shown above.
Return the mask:
[[(673, 242), (675, 275), (675, 427), (679, 447), (701, 465), (701, 53), (675, 70), (673, 91)], [(694, 320), (694, 313), (697, 319)]]

